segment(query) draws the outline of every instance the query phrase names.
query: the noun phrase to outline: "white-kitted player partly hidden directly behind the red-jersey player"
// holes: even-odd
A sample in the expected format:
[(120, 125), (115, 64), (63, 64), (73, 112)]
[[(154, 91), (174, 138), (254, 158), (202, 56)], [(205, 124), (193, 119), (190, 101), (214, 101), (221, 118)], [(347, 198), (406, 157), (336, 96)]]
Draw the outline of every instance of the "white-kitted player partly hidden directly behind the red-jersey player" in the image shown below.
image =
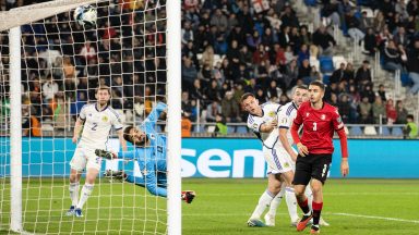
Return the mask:
[[(296, 171), (296, 160), (297, 151), (291, 147), (294, 145), (291, 133), (289, 128), (292, 125), (294, 119), (297, 116), (297, 110), (302, 102), (308, 101), (308, 88), (306, 86), (297, 86), (292, 90), (292, 101), (280, 107), (278, 112), (278, 125), (279, 125), (279, 141), (277, 149), (278, 159), (282, 159), (283, 162), (288, 162), (291, 165), (291, 170), (287, 169), (286, 172), (282, 174), (284, 178), (280, 193), (273, 199), (271, 202), (270, 211), (265, 215), (265, 223), (268, 226), (275, 225), (275, 214), (276, 209), (280, 203), (282, 198), (285, 195), (289, 217), (291, 219), (291, 224), (294, 226), (299, 222), (297, 213), (297, 200), (292, 186), (294, 172)], [(306, 188), (306, 195), (309, 200), (312, 201), (313, 193), (311, 187)], [(310, 203), (311, 205), (311, 203)], [(322, 219), (323, 225), (328, 225)]]

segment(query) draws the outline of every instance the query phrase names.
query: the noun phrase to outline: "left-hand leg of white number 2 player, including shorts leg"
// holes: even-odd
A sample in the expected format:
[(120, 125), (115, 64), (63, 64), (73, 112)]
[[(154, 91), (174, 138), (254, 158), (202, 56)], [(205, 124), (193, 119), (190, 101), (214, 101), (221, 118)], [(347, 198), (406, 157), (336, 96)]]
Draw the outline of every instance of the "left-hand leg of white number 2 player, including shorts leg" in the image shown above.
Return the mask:
[(69, 193), (71, 199), (71, 206), (67, 215), (73, 215), (75, 207), (79, 203), (79, 188), (80, 188), (80, 178), (82, 176), (82, 172), (86, 166), (86, 158), (84, 157), (83, 150), (81, 148), (76, 148), (73, 154), (73, 158), (70, 162), (70, 185)]

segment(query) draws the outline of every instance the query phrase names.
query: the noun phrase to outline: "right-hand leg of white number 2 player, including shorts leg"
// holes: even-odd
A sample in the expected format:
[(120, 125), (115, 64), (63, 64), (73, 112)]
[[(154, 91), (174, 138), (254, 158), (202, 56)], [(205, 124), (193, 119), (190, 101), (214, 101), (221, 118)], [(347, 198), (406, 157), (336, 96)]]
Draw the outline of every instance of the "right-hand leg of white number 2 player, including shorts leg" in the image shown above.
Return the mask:
[(83, 217), (82, 209), (84, 203), (87, 201), (88, 197), (92, 195), (93, 188), (95, 186), (95, 181), (97, 175), (100, 172), (101, 168), (101, 158), (97, 157), (94, 150), (85, 150), (87, 157), (86, 163), (86, 181), (82, 188), (82, 194), (80, 196), (80, 201), (75, 209), (76, 217)]

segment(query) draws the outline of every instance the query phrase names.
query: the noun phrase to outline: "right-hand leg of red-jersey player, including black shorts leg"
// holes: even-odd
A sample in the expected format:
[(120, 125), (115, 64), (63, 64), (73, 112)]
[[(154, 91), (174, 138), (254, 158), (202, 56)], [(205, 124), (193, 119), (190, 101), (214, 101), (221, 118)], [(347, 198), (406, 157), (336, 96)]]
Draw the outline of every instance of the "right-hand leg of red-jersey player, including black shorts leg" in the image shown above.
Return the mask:
[(311, 175), (311, 187), (313, 190), (313, 224), (311, 226), (311, 232), (319, 233), (320, 215), (323, 209), (323, 184), (327, 178), (332, 154), (312, 154), (312, 157), (314, 161)]

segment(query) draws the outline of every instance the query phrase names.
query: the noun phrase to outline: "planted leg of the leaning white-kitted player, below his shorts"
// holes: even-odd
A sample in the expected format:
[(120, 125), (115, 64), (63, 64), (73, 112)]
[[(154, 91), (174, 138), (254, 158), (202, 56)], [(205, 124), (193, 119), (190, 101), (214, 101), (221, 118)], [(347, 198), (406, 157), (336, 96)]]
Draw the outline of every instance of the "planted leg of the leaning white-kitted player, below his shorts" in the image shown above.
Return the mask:
[(265, 226), (261, 221), (261, 215), (265, 209), (271, 205), (272, 200), (280, 190), (279, 175), (268, 174), (267, 175), (267, 188), (259, 198), (256, 208), (248, 221), (249, 226)]

